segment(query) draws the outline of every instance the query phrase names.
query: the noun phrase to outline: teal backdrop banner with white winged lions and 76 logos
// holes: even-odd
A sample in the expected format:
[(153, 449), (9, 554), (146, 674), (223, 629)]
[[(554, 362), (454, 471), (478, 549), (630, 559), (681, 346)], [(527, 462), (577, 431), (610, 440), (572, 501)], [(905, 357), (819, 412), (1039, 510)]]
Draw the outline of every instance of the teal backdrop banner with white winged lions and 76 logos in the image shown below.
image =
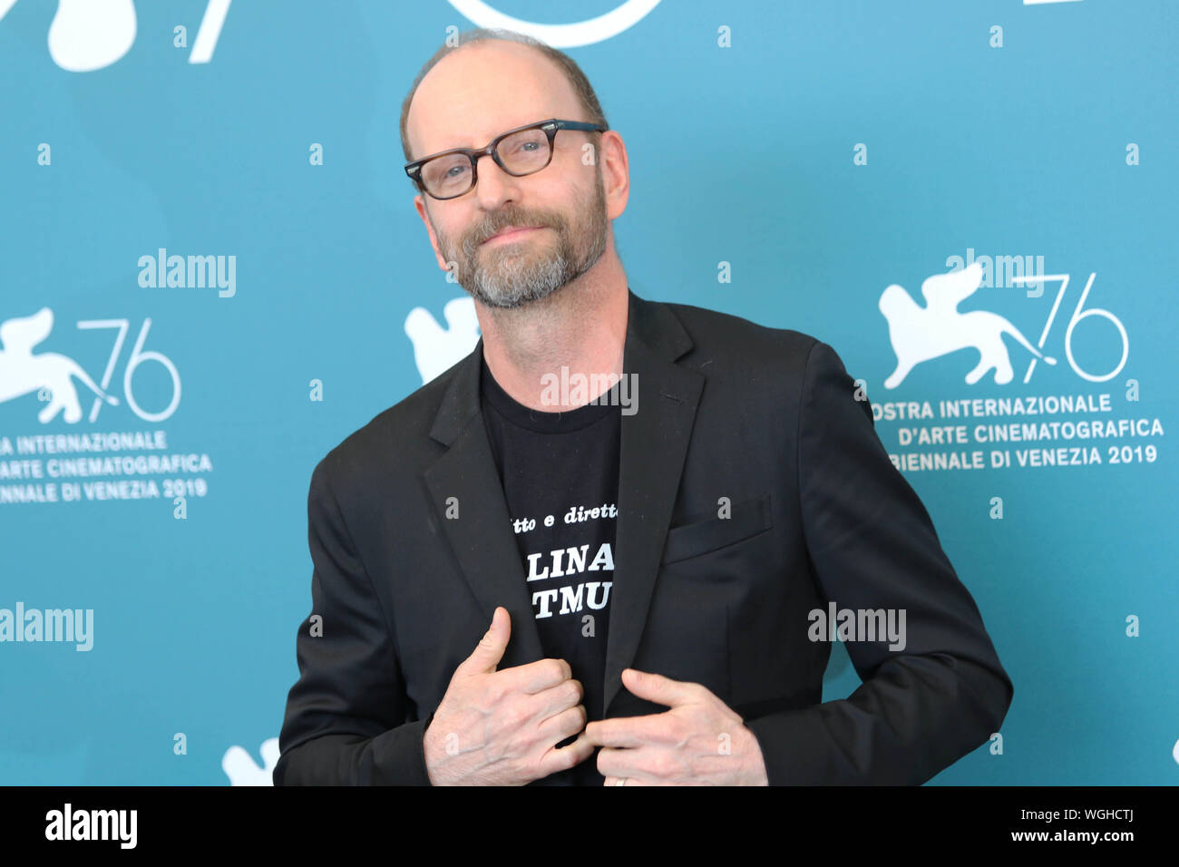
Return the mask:
[(0, 0), (0, 783), (270, 784), (311, 471), (479, 337), (397, 129), (480, 26), (595, 86), (638, 295), (871, 401), (1015, 685), (934, 783), (1179, 782), (1179, 4)]

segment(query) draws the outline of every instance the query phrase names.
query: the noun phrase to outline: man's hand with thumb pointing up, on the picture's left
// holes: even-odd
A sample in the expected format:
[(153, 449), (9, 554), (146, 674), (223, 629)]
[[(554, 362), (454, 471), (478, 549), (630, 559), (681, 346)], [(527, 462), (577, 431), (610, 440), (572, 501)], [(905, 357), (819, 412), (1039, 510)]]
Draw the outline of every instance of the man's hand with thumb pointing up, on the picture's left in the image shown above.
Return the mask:
[(511, 636), (507, 609), (455, 669), (426, 729), (426, 770), (434, 786), (523, 786), (593, 755), (581, 738), (582, 689), (564, 659), (496, 671)]

